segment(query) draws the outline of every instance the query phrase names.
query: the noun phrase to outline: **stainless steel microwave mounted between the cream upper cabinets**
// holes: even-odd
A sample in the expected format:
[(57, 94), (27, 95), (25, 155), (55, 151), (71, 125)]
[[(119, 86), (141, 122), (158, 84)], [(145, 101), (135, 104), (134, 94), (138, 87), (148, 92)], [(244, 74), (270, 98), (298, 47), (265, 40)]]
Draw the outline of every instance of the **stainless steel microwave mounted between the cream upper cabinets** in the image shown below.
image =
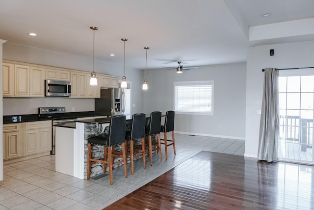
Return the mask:
[(46, 96), (71, 96), (71, 82), (45, 80)]

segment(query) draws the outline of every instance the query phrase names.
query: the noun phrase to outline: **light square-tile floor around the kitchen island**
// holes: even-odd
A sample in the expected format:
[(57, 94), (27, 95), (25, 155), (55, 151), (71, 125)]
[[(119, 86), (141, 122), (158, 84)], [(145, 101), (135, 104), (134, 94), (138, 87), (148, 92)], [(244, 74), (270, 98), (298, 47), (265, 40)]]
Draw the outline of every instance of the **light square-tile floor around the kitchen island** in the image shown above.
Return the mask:
[(54, 155), (4, 165), (0, 210), (101, 210), (202, 150), (244, 155), (244, 140), (183, 134), (175, 134), (175, 139), (176, 155), (170, 146), (165, 160), (162, 145), (161, 162), (155, 153), (153, 166), (147, 157), (144, 170), (142, 159), (138, 159), (134, 161), (134, 175), (128, 164), (128, 178), (123, 167), (116, 168), (113, 185), (107, 175), (80, 180), (55, 172)]

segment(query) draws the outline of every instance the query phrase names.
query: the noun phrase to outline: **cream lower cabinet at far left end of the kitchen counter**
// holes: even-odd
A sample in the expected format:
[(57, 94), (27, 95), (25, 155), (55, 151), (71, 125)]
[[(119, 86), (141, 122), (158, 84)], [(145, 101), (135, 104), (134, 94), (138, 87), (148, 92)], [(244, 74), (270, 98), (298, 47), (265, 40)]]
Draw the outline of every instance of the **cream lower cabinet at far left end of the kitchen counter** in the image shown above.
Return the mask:
[(11, 159), (21, 156), (21, 125), (23, 123), (11, 123), (3, 125), (3, 159)]

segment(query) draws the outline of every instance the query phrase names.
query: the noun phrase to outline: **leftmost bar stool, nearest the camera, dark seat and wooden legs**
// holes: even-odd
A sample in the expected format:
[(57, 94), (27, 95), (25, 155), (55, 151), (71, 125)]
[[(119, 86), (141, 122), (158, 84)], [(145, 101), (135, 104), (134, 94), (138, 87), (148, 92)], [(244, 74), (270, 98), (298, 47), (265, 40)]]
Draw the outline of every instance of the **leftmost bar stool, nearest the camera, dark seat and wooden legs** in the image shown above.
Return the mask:
[[(123, 162), (124, 164), (124, 174), (125, 177), (128, 177), (127, 174), (127, 155), (126, 155), (126, 148), (125, 148), (125, 135), (126, 135), (126, 116), (125, 115), (117, 115), (113, 116), (110, 119), (110, 125), (108, 126), (108, 132), (105, 132), (95, 136), (90, 137), (87, 140), (88, 143), (88, 150), (87, 150), (87, 180), (90, 178), (90, 168), (91, 164), (95, 162), (101, 162), (104, 164), (104, 172), (106, 171), (106, 165), (109, 165), (109, 177), (110, 177), (110, 184), (112, 185), (112, 169), (113, 166), (120, 164)], [(100, 145), (104, 146), (104, 159), (93, 159), (91, 157), (91, 148), (92, 145)], [(121, 145), (122, 147), (122, 155), (115, 152), (112, 147), (115, 145)], [(122, 161), (114, 162), (115, 157), (122, 157)]]

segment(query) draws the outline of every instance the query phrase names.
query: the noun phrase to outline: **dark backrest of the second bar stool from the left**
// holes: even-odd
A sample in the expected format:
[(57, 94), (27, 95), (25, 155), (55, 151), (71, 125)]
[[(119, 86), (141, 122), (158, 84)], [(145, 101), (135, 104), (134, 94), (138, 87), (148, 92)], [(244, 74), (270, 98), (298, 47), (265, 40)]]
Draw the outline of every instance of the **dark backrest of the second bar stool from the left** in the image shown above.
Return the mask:
[(131, 140), (141, 139), (145, 136), (145, 114), (138, 113), (132, 117)]

